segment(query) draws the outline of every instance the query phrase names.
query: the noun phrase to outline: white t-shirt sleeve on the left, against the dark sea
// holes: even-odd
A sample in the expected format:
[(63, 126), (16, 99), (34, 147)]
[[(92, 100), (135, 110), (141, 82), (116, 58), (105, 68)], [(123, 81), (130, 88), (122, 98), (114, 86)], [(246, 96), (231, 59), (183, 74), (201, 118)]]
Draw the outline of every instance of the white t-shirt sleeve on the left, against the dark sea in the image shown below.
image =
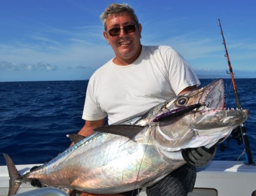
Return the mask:
[(88, 83), (86, 101), (84, 102), (83, 107), (82, 119), (84, 120), (100, 120), (107, 116), (97, 103), (95, 91), (95, 82), (93, 78), (91, 78)]

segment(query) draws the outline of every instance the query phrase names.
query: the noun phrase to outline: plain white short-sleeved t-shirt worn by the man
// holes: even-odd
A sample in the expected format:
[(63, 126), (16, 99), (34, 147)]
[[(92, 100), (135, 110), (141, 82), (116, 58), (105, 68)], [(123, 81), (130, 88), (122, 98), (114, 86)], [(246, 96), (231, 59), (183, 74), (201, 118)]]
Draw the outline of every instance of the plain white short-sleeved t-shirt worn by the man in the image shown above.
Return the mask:
[(191, 67), (172, 47), (142, 46), (140, 56), (129, 66), (118, 66), (112, 59), (96, 70), (88, 83), (82, 118), (108, 116), (112, 124), (199, 84)]

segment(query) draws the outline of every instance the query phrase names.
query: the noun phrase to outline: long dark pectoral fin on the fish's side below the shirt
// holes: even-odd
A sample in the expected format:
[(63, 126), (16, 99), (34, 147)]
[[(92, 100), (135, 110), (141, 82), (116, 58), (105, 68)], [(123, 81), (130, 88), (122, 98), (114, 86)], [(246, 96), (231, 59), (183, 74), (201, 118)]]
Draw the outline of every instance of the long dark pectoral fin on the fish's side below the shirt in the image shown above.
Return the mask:
[(129, 139), (133, 139), (143, 128), (144, 126), (139, 126), (139, 125), (118, 124), (118, 125), (102, 126), (102, 127), (95, 128), (93, 130), (94, 132), (115, 134), (115, 135), (127, 137)]

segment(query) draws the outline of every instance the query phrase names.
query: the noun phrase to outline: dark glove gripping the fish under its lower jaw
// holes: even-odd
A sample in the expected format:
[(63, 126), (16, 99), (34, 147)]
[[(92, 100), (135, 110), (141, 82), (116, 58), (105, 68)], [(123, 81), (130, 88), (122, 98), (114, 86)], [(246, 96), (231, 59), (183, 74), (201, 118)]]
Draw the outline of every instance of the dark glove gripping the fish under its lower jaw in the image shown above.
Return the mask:
[(198, 148), (187, 148), (181, 151), (183, 159), (196, 167), (207, 164), (216, 154), (216, 145), (209, 149), (202, 146)]

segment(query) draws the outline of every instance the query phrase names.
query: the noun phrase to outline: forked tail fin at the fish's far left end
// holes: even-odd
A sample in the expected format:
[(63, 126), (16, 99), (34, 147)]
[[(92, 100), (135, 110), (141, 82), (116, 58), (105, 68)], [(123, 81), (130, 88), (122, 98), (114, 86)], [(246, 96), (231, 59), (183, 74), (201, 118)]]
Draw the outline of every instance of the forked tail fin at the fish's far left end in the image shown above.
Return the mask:
[(9, 192), (8, 192), (8, 196), (9, 196), (9, 195), (16, 194), (20, 184), (22, 184), (22, 183), (16, 181), (20, 177), (20, 174), (19, 174), (18, 170), (16, 169), (15, 165), (13, 164), (11, 158), (5, 153), (3, 155), (5, 157), (6, 165), (7, 165), (8, 172), (9, 172), (9, 178), (10, 178)]

